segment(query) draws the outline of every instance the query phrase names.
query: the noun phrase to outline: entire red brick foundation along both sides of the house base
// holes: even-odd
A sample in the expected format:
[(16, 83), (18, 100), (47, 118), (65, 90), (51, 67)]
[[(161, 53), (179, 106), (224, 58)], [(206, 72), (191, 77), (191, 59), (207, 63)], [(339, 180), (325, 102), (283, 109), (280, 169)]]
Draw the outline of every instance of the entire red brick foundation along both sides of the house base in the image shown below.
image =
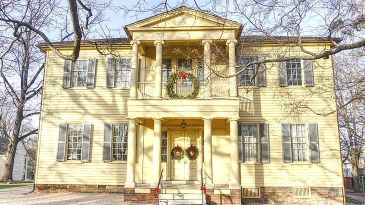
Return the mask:
[[(338, 194), (332, 195), (331, 188), (337, 188)], [(310, 190), (310, 198), (295, 198), (292, 197), (292, 187), (261, 187), (260, 198), (241, 198), (240, 189), (232, 189), (230, 194), (214, 194), (213, 189), (207, 189), (206, 202), (207, 204), (343, 204), (342, 187), (310, 187)], [(123, 193), (125, 201), (157, 202), (152, 188), (149, 193), (134, 193), (134, 188), (124, 188), (123, 185), (35, 184), (35, 191)]]

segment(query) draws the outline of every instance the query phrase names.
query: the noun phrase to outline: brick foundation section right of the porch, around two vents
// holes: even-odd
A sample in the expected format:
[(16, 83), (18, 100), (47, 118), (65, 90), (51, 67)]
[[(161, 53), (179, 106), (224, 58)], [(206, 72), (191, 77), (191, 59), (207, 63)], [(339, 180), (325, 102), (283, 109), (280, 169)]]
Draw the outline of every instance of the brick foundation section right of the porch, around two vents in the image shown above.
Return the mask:
[[(331, 188), (338, 189), (338, 195), (331, 195)], [(310, 187), (311, 197), (292, 197), (292, 187), (261, 187), (261, 198), (243, 198), (243, 204), (343, 204), (342, 187)]]

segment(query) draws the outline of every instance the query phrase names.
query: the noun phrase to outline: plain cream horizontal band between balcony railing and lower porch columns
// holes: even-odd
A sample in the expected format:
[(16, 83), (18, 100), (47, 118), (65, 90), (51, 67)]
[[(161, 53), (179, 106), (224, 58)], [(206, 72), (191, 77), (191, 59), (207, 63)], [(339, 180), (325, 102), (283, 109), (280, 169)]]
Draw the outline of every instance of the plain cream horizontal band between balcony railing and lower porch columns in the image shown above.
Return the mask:
[(128, 117), (239, 118), (238, 99), (129, 99)]

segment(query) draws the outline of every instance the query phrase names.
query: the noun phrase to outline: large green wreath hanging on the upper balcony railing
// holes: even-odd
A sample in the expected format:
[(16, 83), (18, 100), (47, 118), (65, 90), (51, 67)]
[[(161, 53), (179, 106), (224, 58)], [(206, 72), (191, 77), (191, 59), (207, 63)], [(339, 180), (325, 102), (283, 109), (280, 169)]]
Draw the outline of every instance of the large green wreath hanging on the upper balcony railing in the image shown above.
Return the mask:
[[(173, 91), (174, 84), (176, 83), (176, 80), (179, 77), (178, 73), (184, 73), (185, 76), (187, 78), (189, 78), (191, 83), (192, 83), (192, 92), (190, 94), (188, 94), (187, 96), (178, 95), (178, 94), (176, 94), (176, 92)], [(178, 72), (178, 73), (176, 73), (176, 72), (171, 73), (171, 75), (167, 79), (166, 93), (167, 93), (168, 98), (171, 98), (171, 99), (193, 99), (193, 98), (196, 98), (197, 95), (199, 94), (199, 88), (200, 88), (199, 80), (197, 80), (197, 78), (191, 73), (187, 73), (187, 72), (183, 72), (183, 71)]]

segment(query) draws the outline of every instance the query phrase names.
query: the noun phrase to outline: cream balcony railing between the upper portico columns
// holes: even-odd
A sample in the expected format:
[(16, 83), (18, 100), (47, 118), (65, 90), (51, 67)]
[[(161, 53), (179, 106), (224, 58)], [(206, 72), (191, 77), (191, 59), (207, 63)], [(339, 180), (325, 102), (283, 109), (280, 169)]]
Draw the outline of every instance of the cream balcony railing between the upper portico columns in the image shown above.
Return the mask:
[[(138, 98), (150, 99), (154, 95), (154, 82), (138, 82), (137, 83)], [(174, 91), (178, 95), (187, 96), (193, 90), (191, 82), (176, 83)], [(211, 96), (213, 98), (226, 98), (229, 96), (228, 81), (212, 81)], [(162, 98), (168, 98), (166, 88), (162, 87)], [(204, 98), (204, 85), (200, 85), (198, 98)]]

